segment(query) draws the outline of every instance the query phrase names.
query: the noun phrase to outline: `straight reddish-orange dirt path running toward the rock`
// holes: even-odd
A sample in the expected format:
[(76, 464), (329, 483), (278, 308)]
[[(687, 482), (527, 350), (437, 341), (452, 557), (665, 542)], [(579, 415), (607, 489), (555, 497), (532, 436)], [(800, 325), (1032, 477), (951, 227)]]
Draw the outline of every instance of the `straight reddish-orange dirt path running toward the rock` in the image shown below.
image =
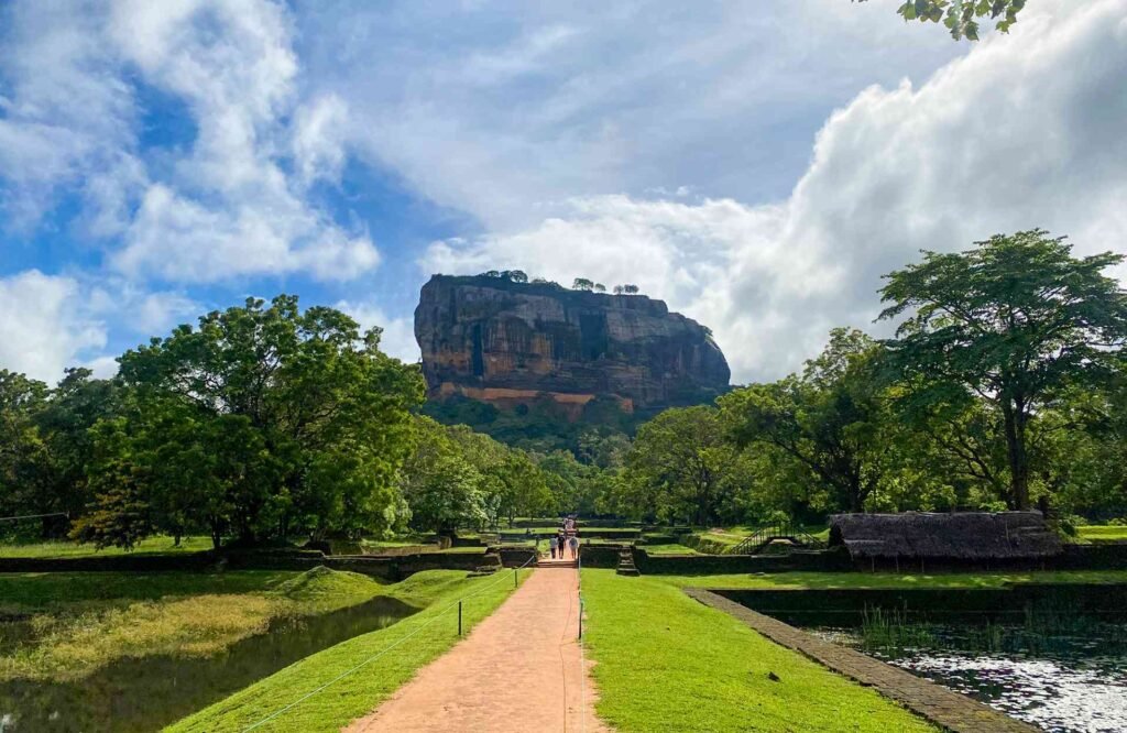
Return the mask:
[(538, 567), (465, 641), (345, 730), (605, 733), (578, 615), (578, 571)]

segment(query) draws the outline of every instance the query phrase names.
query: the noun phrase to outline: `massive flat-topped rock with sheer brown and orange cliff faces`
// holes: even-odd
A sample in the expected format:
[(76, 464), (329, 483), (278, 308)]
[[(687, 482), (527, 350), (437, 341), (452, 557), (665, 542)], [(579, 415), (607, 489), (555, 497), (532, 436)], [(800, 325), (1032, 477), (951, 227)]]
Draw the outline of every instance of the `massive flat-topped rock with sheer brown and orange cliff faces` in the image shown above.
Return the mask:
[(710, 399), (730, 372), (709, 332), (645, 295), (435, 275), (415, 310), (432, 398), (463, 395), (583, 406), (613, 396), (637, 407)]

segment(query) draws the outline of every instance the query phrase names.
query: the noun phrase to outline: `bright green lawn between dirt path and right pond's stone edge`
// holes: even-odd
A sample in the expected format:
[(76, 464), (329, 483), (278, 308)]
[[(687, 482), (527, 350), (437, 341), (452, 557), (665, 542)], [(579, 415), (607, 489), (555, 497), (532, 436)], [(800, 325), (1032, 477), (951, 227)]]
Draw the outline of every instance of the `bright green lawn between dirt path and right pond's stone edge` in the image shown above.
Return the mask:
[(672, 583), (585, 569), (583, 594), (596, 709), (622, 733), (935, 730)]

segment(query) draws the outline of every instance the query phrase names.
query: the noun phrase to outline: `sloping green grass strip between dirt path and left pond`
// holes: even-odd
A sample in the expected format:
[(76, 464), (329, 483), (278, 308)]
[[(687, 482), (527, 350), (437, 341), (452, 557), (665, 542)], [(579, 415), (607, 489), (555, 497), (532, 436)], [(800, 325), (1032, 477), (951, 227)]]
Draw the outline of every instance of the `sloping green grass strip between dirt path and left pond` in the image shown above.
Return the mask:
[[(522, 580), (529, 572), (521, 571)], [(479, 593), (464, 602), (463, 622), (468, 633), (513, 591), (508, 572), (470, 579), (455, 571), (432, 571), (412, 575), (399, 585), (396, 592), (402, 600), (426, 602), (428, 607), (385, 629), (357, 636), (292, 664), (167, 730), (243, 731), (382, 653), (378, 660), (255, 728), (336, 733), (349, 721), (373, 710), (419, 668), (458, 642), (459, 598)], [(391, 646), (399, 642), (402, 643)]]

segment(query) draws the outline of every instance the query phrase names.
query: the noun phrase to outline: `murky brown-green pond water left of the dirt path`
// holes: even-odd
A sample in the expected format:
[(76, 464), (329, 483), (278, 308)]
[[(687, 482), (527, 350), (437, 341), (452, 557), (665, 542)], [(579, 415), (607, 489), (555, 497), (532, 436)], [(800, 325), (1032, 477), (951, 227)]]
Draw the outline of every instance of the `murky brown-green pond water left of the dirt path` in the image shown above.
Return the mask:
[[(279, 619), (267, 633), (215, 656), (125, 659), (68, 683), (0, 682), (0, 732), (159, 731), (298, 660), (416, 610), (378, 598), (325, 616)], [(0, 646), (27, 638), (21, 624), (0, 621)]]

